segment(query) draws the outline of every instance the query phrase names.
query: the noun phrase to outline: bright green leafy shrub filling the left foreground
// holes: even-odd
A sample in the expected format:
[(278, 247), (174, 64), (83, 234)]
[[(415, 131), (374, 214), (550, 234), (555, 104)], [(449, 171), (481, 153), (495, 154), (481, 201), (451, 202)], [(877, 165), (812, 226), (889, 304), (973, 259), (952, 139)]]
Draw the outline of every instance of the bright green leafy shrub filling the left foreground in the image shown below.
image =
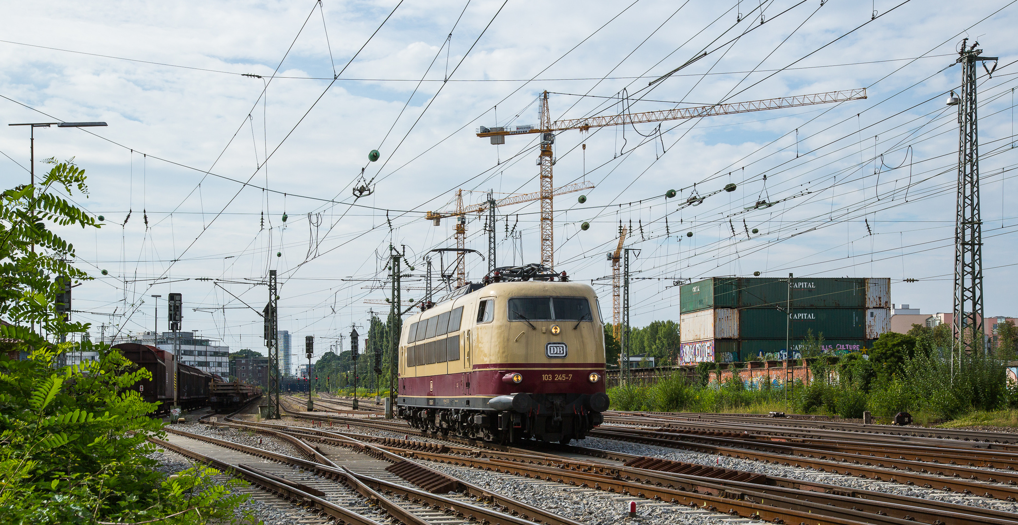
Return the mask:
[[(169, 480), (153, 468), (147, 439), (162, 423), (130, 389), (149, 372), (106, 344), (59, 342), (89, 325), (56, 313), (55, 276), (90, 277), (51, 227), (99, 225), (53, 192), (86, 192), (84, 171), (53, 164), (40, 184), (0, 194), (0, 315), (10, 322), (0, 339), (26, 356), (0, 354), (0, 523), (228, 521), (245, 498), (227, 495), (236, 482), (215, 482), (208, 468)], [(78, 350), (99, 359), (60, 365)]]

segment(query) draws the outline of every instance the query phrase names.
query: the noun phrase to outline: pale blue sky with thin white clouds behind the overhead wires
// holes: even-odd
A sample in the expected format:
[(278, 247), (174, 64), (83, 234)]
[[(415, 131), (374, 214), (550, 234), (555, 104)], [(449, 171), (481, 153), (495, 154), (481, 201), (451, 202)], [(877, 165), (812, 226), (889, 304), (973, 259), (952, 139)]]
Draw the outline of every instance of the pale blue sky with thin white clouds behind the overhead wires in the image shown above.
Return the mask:
[[(540, 189), (535, 135), (492, 145), (475, 133), (538, 124), (545, 91), (559, 120), (866, 90), (559, 132), (555, 186), (593, 187), (555, 199), (555, 267), (593, 284), (606, 320), (620, 222), (640, 250), (634, 326), (677, 319), (677, 283), (754, 272), (887, 277), (892, 302), (950, 311), (958, 130), (945, 99), (965, 38), (999, 57), (978, 88), (985, 312), (1018, 315), (1015, 1), (43, 1), (3, 12), (2, 120), (109, 124), (39, 128), (35, 140), (37, 174), (44, 159), (73, 159), (89, 193), (70, 198), (104, 219), (60, 230), (96, 278), (74, 290), (93, 337), (153, 330), (157, 309), (166, 330), (166, 296), (179, 292), (184, 330), (264, 351), (254, 310), (276, 270), (294, 348), (307, 335), (319, 354), (348, 348), (352, 325), (388, 312), (390, 246), (411, 267), (404, 299), (422, 297), (427, 256), (436, 275), (452, 272), (430, 251), (455, 246), (453, 221), (434, 226), (427, 212), (454, 210), (458, 189), (467, 208), (488, 191)], [(0, 153), (3, 187), (27, 182), (27, 128), (2, 126)], [(374, 192), (355, 198), (365, 181)], [(496, 213), (498, 266), (539, 261), (538, 202)], [(483, 253), (485, 220), (466, 222), (466, 247)], [(469, 280), (487, 270), (467, 256)]]

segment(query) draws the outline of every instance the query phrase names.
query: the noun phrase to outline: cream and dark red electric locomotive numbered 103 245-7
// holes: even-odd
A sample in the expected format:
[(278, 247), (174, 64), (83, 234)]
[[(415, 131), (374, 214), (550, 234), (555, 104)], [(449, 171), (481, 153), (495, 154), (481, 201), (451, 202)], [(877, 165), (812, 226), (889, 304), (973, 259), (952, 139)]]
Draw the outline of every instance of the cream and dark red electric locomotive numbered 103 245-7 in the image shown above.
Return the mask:
[(604, 334), (590, 286), (500, 268), (404, 322), (397, 413), (490, 442), (582, 440), (609, 406)]

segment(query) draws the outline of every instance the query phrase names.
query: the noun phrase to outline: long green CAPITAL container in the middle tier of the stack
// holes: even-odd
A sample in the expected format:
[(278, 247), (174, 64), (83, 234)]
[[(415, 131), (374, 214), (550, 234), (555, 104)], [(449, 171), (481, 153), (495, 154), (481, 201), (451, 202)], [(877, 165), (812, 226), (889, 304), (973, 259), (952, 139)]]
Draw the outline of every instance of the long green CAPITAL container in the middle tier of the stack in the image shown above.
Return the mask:
[(745, 308), (739, 311), (739, 339), (792, 339), (813, 336), (825, 339), (866, 339), (865, 308), (792, 308), (791, 323), (784, 309)]

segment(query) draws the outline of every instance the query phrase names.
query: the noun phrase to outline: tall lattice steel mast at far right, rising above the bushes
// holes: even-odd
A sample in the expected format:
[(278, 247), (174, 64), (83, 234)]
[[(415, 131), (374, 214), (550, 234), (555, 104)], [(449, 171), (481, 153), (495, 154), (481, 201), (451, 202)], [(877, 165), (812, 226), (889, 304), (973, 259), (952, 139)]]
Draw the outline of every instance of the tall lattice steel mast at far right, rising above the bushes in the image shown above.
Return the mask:
[[(976, 62), (997, 60), (979, 56), (979, 43), (961, 41), (957, 63), (962, 65), (961, 96), (952, 93), (949, 106), (958, 106), (958, 198), (955, 220), (954, 325), (958, 366), (966, 351), (982, 351), (982, 220), (979, 216), (979, 133), (976, 118)], [(983, 65), (985, 67), (985, 65)], [(994, 65), (997, 68), (997, 65)], [(986, 70), (992, 73), (991, 70)], [(968, 340), (966, 341), (966, 332)], [(978, 343), (976, 338), (980, 340)], [(955, 346), (954, 344), (952, 346)], [(954, 349), (951, 352), (954, 375)]]

